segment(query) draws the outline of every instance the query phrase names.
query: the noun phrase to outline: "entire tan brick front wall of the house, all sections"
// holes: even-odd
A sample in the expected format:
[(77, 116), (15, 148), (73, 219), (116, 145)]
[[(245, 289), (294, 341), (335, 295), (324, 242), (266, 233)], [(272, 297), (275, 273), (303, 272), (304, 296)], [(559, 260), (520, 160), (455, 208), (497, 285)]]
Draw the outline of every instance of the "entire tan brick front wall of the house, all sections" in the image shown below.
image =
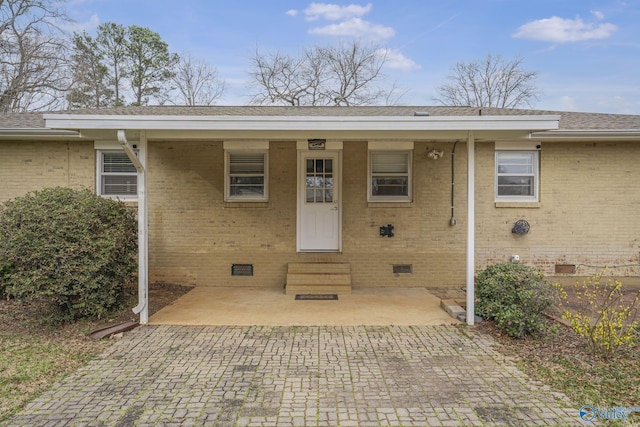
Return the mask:
[[(466, 144), (456, 150), (451, 217), (452, 143), (416, 142), (414, 201), (367, 202), (367, 142), (344, 143), (343, 253), (296, 254), (296, 145), (272, 141), (268, 203), (225, 203), (222, 142), (149, 143), (150, 277), (200, 286), (284, 285), (288, 262), (350, 262), (354, 286), (463, 286), (466, 248)], [(432, 148), (439, 160), (427, 158)], [(556, 264), (589, 275), (608, 265), (640, 276), (640, 146), (636, 143), (543, 144), (540, 203), (494, 202), (494, 144), (476, 144), (477, 267), (522, 262), (553, 274)], [(0, 141), (0, 200), (50, 186), (95, 188), (92, 142)], [(504, 205), (502, 205), (504, 206)], [(523, 207), (527, 206), (527, 207)], [(524, 219), (531, 231), (511, 232)], [(393, 224), (395, 237), (379, 236)], [(253, 264), (253, 277), (231, 265)], [(413, 274), (394, 275), (394, 264)], [(611, 267), (613, 266), (613, 267)]]

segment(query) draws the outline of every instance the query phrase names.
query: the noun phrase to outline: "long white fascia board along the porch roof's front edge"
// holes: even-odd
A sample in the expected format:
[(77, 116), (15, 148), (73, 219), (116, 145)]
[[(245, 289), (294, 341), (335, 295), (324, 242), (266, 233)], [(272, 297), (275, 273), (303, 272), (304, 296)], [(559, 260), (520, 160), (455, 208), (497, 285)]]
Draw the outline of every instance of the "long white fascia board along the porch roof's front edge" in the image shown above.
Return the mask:
[(131, 130), (529, 130), (558, 129), (559, 115), (531, 116), (118, 116), (45, 114), (55, 129)]

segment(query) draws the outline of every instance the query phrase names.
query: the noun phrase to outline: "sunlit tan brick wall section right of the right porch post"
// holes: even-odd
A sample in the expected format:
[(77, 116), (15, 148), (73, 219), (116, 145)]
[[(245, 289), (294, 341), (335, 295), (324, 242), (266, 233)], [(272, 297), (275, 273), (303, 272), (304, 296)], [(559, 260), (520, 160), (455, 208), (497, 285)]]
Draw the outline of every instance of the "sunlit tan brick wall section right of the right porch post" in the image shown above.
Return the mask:
[[(556, 264), (572, 264), (581, 276), (604, 266), (614, 274), (640, 275), (639, 154), (636, 143), (546, 142), (540, 204), (531, 208), (497, 208), (493, 168), (478, 167), (478, 267), (518, 254), (547, 274)], [(493, 144), (478, 144), (478, 165), (493, 165), (493, 157)], [(519, 219), (530, 224), (529, 234), (511, 232)]]

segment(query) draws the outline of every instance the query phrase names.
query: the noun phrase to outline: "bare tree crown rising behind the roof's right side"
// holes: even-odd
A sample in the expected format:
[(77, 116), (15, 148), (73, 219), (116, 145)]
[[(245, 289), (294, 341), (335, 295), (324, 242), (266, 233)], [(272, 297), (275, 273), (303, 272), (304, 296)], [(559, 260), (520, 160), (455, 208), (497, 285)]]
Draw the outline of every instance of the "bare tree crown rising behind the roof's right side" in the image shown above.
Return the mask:
[(489, 54), (483, 60), (458, 62), (451, 69), (449, 83), (438, 88), (439, 97), (434, 100), (451, 106), (531, 107), (540, 95), (535, 85), (538, 74), (522, 69), (522, 61)]

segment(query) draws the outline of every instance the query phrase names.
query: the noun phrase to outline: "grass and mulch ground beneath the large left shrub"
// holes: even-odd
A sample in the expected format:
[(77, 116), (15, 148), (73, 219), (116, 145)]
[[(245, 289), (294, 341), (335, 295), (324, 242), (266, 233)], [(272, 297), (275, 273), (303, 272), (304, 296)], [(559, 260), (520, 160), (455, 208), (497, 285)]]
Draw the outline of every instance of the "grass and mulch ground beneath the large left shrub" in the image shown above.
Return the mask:
[[(154, 283), (149, 314), (190, 289)], [(90, 339), (91, 331), (137, 320), (130, 309), (136, 305), (135, 292), (135, 288), (128, 289), (125, 308), (109, 317), (75, 323), (56, 323), (46, 305), (0, 298), (0, 424), (111, 344)]]

